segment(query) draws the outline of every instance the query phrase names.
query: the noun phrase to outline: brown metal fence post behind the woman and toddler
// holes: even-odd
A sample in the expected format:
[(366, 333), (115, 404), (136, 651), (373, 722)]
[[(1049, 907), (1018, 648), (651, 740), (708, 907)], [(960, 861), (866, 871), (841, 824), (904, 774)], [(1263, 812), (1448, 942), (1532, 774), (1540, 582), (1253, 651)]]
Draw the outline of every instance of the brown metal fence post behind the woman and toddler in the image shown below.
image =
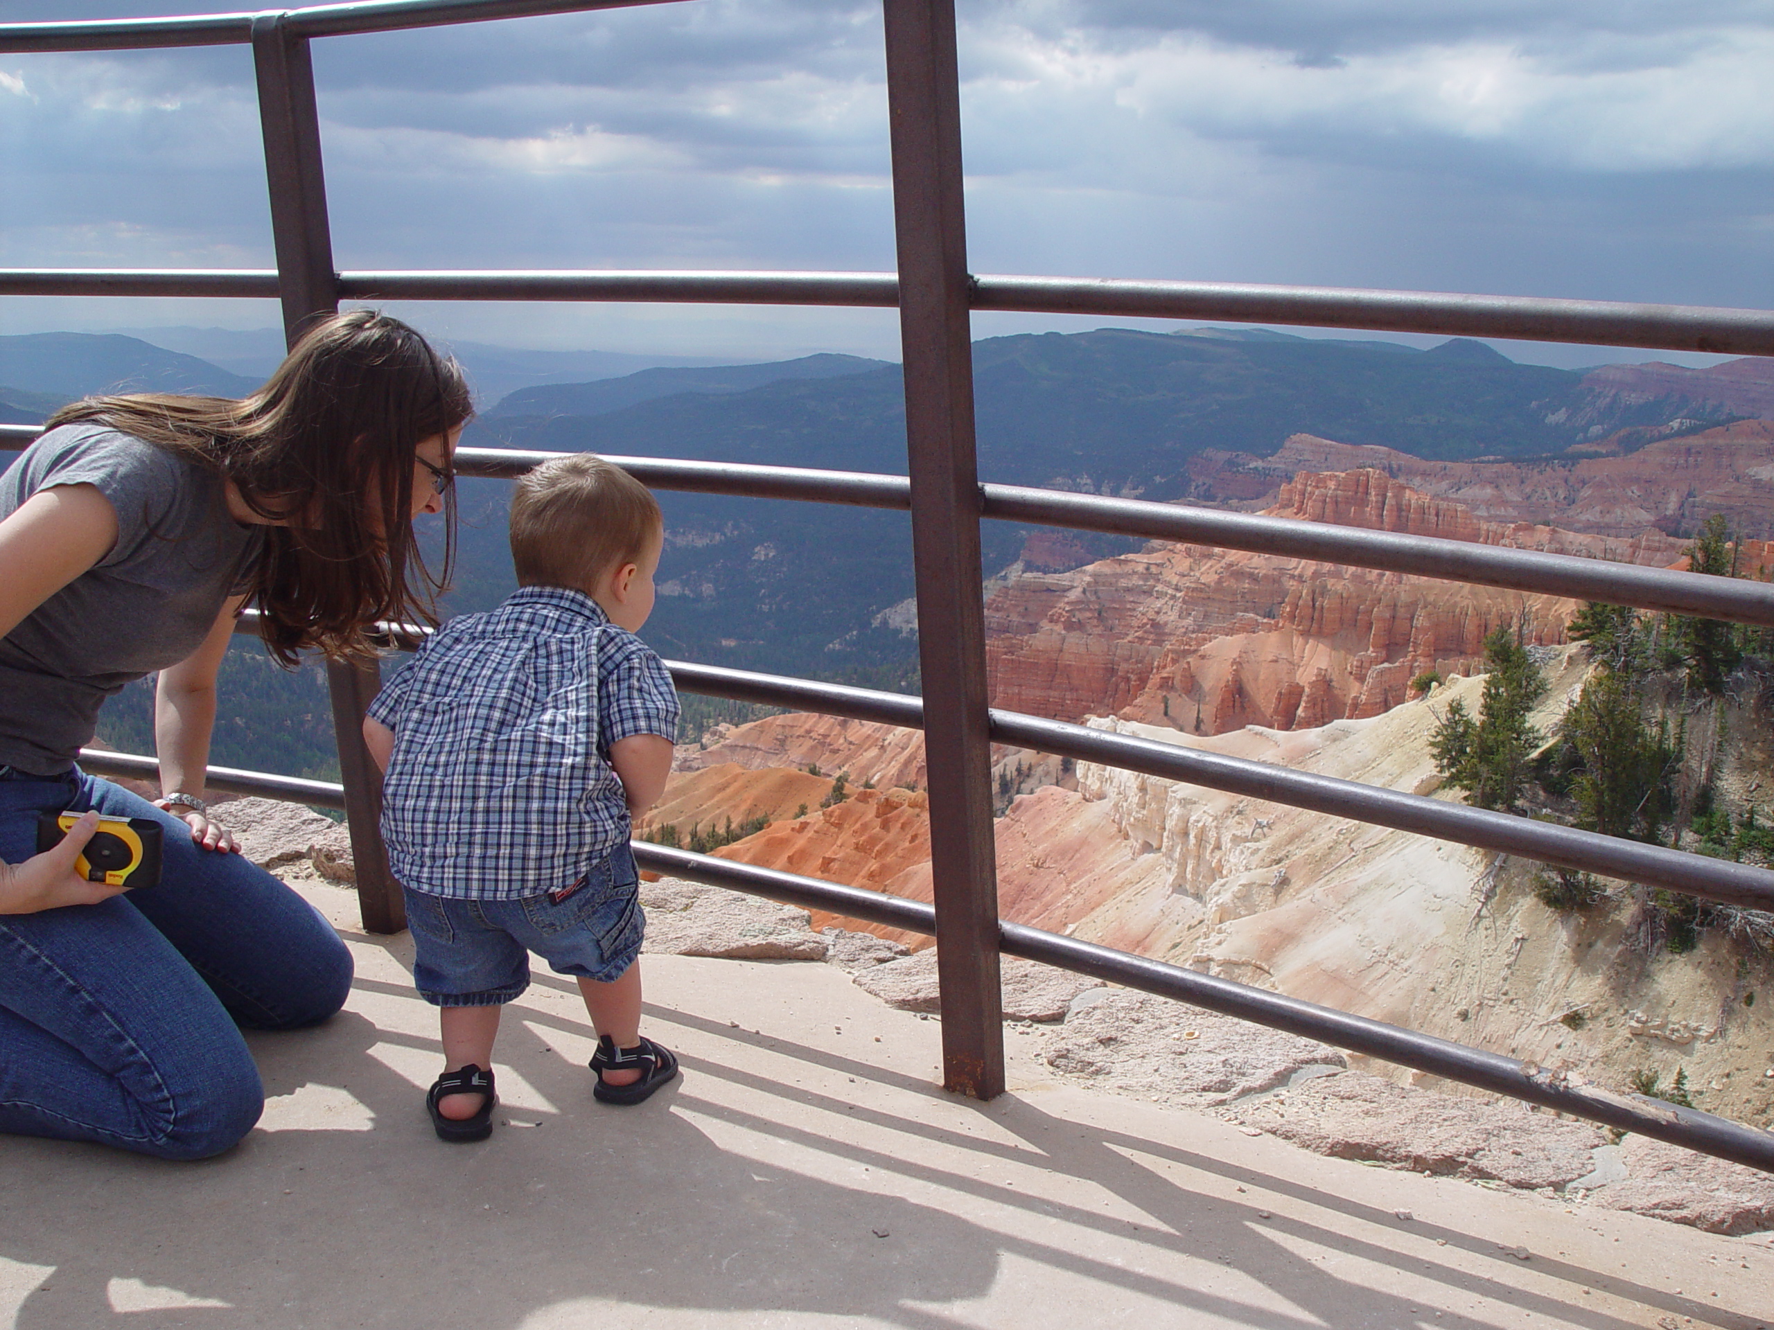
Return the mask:
[[(277, 286), (284, 305), (284, 337), (294, 346), (318, 317), (339, 309), (339, 278), (326, 220), (326, 177), (321, 167), (321, 122), (314, 101), (309, 41), (289, 32), (284, 14), (252, 20), (252, 62), (259, 82), (259, 124), (264, 131), (264, 176), (271, 190), (271, 238), (277, 245)], [(406, 908), (389, 872), (381, 844), (381, 771), (364, 747), (364, 709), (381, 686), (374, 663), (326, 663), (334, 739), (344, 782), (357, 901), (369, 933), (399, 933)]]

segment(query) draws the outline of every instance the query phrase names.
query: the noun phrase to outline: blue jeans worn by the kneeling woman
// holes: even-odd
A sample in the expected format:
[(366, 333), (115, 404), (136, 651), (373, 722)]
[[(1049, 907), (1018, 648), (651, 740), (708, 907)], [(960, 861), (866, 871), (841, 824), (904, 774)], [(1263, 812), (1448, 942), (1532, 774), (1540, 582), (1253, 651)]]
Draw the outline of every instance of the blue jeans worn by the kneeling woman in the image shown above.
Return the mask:
[(326, 1020), (351, 956), (259, 865), (78, 768), (0, 777), (0, 860), (35, 853), (37, 814), (154, 818), (161, 880), (99, 904), (0, 915), (0, 1131), (98, 1140), (165, 1160), (238, 1142), (264, 1108), (238, 1025)]

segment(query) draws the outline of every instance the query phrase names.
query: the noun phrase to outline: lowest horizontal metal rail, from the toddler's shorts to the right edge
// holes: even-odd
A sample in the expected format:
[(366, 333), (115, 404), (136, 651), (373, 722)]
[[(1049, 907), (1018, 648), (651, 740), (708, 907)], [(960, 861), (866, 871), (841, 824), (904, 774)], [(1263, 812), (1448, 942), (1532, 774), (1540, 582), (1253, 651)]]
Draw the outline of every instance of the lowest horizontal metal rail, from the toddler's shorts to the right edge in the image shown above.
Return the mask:
[[(823, 910), (908, 933), (931, 936), (937, 931), (937, 911), (922, 901), (907, 901), (860, 887), (843, 887), (644, 841), (637, 841), (633, 849), (635, 862), (651, 872), (786, 901), (804, 910)], [(1183, 970), (1164, 961), (1132, 956), (1024, 924), (1001, 922), (999, 947), (1008, 956), (1022, 956), (1142, 993), (1192, 1002), (1197, 1007), (1236, 1016), (1272, 1030), (1318, 1039), (1352, 1053), (1384, 1059), (1462, 1085), (1476, 1085), (1591, 1123), (1604, 1123), (1733, 1160), (1751, 1169), (1774, 1172), (1774, 1133), (1758, 1131), (1753, 1126), (1696, 1108), (1611, 1094), (1595, 1085), (1574, 1084), (1565, 1073), (1549, 1071), (1533, 1062), (1488, 1053), (1449, 1039), (1437, 1039), (1417, 1030), (1354, 1016), (1334, 1007), (1320, 1007), (1283, 993)]]

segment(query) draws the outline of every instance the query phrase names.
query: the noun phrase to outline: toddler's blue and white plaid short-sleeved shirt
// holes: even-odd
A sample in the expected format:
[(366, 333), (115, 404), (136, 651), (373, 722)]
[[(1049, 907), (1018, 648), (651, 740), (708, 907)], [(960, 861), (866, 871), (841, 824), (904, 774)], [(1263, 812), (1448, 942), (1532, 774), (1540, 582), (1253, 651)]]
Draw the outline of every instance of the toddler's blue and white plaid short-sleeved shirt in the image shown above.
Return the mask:
[(523, 587), (451, 619), (369, 708), (394, 731), (381, 786), (389, 867), (415, 892), (555, 892), (628, 841), (610, 745), (676, 739), (665, 663), (591, 596)]

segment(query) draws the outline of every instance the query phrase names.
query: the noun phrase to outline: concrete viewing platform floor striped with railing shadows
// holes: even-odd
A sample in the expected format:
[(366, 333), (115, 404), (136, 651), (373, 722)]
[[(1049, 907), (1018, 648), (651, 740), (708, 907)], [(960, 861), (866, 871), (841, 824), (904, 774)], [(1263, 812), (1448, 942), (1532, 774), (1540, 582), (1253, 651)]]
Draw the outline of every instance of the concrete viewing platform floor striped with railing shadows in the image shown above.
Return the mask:
[(648, 956), (683, 1076), (591, 1098), (546, 970), (506, 1014), (491, 1140), (422, 1107), (406, 936), (303, 885), (358, 979), (252, 1036), (271, 1096), (204, 1163), (0, 1138), (0, 1330), (160, 1326), (1774, 1326), (1774, 1243), (1322, 1158), (1066, 1082), (937, 1085), (940, 1025), (830, 965)]

